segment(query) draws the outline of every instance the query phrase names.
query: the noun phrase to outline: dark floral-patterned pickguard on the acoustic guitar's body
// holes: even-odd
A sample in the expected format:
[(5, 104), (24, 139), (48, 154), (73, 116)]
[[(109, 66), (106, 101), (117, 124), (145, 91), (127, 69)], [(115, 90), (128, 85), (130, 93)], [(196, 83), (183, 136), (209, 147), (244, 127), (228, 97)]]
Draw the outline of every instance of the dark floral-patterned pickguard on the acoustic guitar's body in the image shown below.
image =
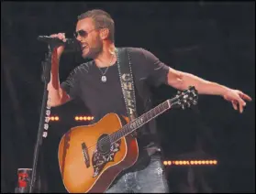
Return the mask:
[(95, 149), (93, 154), (93, 167), (94, 167), (94, 175), (93, 178), (98, 176), (98, 174), (102, 171), (102, 169), (106, 166), (106, 163), (114, 161), (114, 157), (117, 152), (120, 150), (121, 140), (110, 145), (110, 150), (107, 154), (103, 154), (98, 149)]

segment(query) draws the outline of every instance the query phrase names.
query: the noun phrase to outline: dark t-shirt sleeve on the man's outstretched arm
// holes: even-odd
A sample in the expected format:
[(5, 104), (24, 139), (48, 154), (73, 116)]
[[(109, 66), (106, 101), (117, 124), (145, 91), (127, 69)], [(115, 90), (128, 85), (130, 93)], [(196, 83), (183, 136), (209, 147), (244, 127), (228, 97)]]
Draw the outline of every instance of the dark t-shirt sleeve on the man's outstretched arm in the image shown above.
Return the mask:
[(150, 51), (144, 48), (141, 48), (141, 51), (145, 59), (143, 68), (147, 71), (147, 79), (150, 84), (156, 87), (161, 84), (168, 84), (167, 74), (170, 68)]

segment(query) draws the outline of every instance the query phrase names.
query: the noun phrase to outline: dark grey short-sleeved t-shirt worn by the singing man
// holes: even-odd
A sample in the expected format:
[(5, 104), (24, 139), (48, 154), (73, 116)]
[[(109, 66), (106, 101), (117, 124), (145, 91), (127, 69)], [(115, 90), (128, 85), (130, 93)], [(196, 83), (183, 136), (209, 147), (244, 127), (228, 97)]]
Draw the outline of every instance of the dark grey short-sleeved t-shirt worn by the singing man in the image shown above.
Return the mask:
[[(151, 87), (167, 84), (169, 67), (157, 59), (150, 51), (143, 48), (128, 48), (134, 84), (136, 88), (136, 105), (138, 115), (150, 110)], [(106, 68), (101, 69), (102, 72)], [(128, 116), (117, 70), (117, 62), (106, 71), (106, 82), (101, 81), (102, 72), (92, 60), (83, 63), (74, 70), (61, 87), (71, 98), (81, 98), (85, 106), (94, 115), (94, 122), (106, 113)], [(159, 144), (155, 120), (142, 126), (139, 130), (139, 149), (150, 143)], [(152, 145), (152, 144), (150, 144)]]

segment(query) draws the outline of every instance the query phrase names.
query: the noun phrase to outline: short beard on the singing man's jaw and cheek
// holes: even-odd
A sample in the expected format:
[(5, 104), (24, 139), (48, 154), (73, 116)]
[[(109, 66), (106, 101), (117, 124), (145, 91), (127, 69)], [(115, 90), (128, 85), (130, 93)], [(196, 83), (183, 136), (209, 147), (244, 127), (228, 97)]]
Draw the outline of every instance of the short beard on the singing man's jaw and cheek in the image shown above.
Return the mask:
[[(86, 49), (88, 51), (86, 53), (83, 53)], [(103, 43), (101, 39), (98, 37), (95, 39), (95, 42), (93, 43), (93, 46), (88, 46), (88, 48), (85, 48), (82, 50), (82, 57), (83, 59), (95, 59), (103, 50)]]

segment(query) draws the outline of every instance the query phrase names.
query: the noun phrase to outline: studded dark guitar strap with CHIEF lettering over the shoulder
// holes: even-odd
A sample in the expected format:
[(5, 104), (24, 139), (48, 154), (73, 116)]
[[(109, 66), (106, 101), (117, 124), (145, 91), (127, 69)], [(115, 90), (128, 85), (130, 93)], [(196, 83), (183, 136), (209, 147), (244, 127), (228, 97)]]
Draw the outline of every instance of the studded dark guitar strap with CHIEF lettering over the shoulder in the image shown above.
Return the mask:
[[(137, 118), (136, 111), (136, 98), (134, 90), (134, 81), (131, 68), (131, 60), (128, 52), (128, 48), (116, 48), (117, 54), (117, 68), (119, 72), (119, 78), (121, 81), (122, 92), (127, 107), (129, 121)], [(137, 136), (136, 131), (132, 133)]]

